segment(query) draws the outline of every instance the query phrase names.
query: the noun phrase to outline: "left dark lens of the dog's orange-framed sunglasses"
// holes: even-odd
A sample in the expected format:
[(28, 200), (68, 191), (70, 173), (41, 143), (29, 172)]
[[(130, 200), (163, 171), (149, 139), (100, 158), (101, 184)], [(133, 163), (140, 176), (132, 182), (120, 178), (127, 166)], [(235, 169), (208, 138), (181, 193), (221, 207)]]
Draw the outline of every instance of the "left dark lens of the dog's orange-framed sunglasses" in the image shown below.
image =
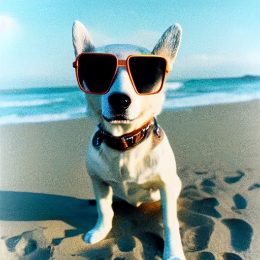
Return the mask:
[(115, 75), (115, 56), (82, 54), (79, 57), (78, 76), (82, 88), (94, 93), (105, 93)]

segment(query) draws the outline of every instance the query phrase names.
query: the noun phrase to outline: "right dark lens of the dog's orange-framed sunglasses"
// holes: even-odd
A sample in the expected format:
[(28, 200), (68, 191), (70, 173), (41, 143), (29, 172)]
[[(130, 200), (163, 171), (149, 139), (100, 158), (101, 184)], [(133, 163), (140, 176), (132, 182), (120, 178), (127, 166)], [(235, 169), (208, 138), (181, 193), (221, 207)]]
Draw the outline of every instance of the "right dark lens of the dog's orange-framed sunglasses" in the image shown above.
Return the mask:
[(129, 70), (140, 94), (156, 93), (164, 82), (166, 60), (162, 57), (131, 57)]

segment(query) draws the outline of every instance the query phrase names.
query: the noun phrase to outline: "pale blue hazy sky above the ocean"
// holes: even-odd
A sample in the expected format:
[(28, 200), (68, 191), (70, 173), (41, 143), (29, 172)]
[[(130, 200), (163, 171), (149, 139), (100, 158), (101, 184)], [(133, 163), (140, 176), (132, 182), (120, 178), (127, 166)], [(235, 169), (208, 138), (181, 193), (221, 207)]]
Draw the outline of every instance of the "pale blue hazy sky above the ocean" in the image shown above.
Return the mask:
[(259, 0), (0, 0), (0, 89), (77, 85), (75, 20), (95, 46), (150, 50), (179, 23), (182, 42), (168, 79), (260, 75)]

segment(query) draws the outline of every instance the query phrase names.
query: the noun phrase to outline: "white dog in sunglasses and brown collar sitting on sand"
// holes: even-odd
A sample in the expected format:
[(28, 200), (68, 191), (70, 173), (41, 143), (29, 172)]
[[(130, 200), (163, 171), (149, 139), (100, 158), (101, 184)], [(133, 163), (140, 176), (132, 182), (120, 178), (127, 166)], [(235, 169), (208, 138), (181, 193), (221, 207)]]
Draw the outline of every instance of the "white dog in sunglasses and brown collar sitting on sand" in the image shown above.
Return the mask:
[[(170, 26), (152, 52), (128, 44), (95, 48), (84, 25), (75, 21), (73, 45), (76, 58), (82, 53), (103, 53), (112, 54), (124, 62), (133, 54), (157, 55), (167, 60), (171, 70), (181, 42), (181, 33), (179, 24)], [(89, 66), (93, 70), (92, 65)], [(77, 67), (76, 63), (74, 67)], [(96, 68), (100, 70), (97, 79), (102, 80), (102, 72), (110, 67), (99, 64), (99, 68)], [(144, 202), (161, 200), (165, 232), (163, 258), (185, 260), (177, 219), (181, 181), (176, 173), (175, 157), (167, 136), (155, 119), (161, 112), (165, 93), (162, 90), (154, 94), (138, 94), (125, 67), (124, 63), (117, 68), (108, 92), (86, 94), (88, 107), (100, 122), (86, 152), (86, 167), (91, 177), (99, 217), (84, 240), (91, 244), (97, 243), (112, 229), (113, 194), (137, 207)], [(93, 70), (93, 73), (99, 72)], [(83, 80), (79, 84), (86, 83)], [(133, 142), (134, 138), (138, 140)]]

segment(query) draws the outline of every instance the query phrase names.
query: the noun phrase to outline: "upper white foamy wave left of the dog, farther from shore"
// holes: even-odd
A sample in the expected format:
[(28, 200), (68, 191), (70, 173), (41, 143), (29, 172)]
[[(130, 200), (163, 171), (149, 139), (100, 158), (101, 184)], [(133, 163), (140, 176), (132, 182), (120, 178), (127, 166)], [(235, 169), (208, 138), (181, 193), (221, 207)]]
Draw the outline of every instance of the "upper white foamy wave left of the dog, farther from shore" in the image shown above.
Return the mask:
[(0, 108), (13, 108), (13, 107), (38, 107), (53, 104), (66, 103), (66, 99), (58, 98), (54, 100), (31, 100), (31, 101), (2, 101)]

